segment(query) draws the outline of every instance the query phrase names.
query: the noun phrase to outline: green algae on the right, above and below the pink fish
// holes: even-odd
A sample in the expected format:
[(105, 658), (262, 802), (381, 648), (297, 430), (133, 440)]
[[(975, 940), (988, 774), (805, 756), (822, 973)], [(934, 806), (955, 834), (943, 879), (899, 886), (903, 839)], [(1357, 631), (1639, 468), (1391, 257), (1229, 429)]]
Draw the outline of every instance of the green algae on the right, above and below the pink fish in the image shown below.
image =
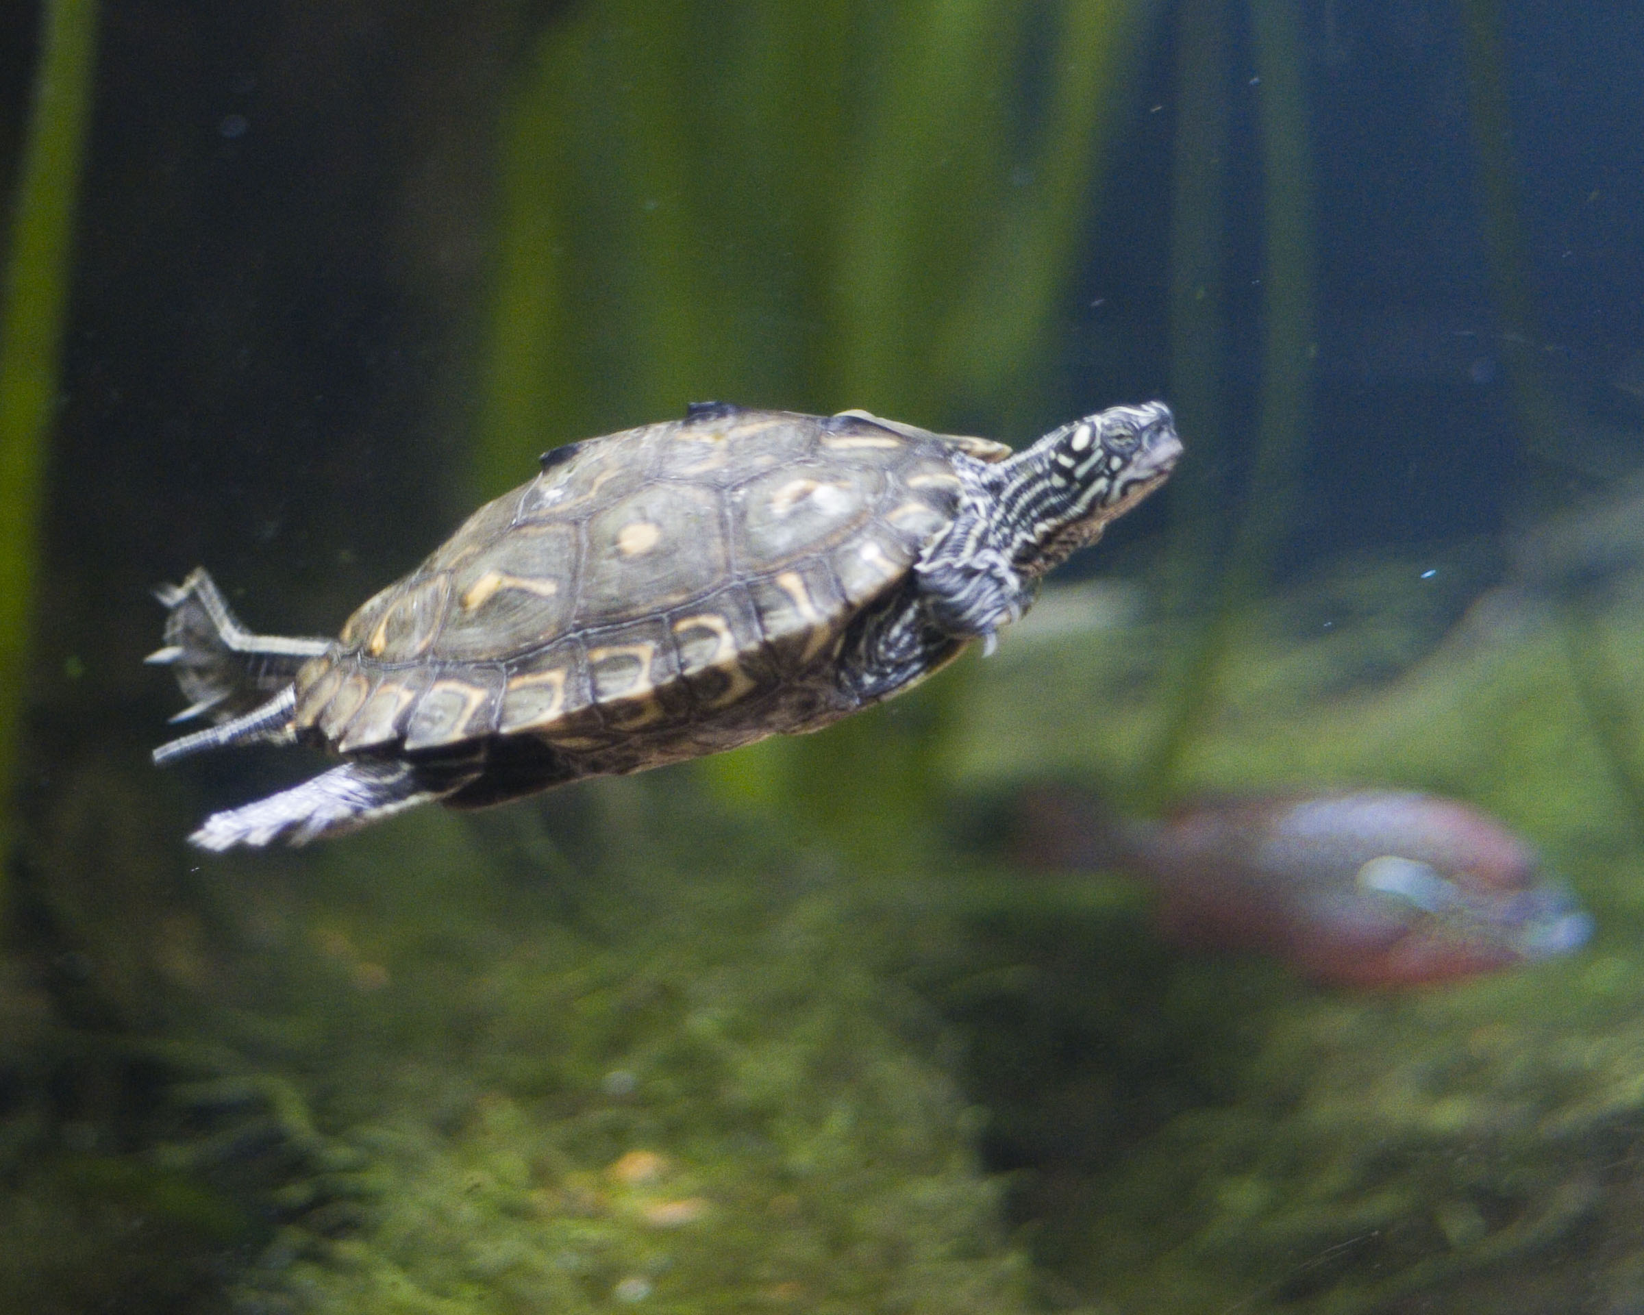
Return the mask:
[[(1434, 569), (1458, 580), (1453, 598), (1420, 593)], [(1069, 1172), (1057, 1156), (1029, 1157), (1060, 1167), (1031, 1177), (1013, 1208), (1032, 1223), (1039, 1262), (1083, 1300), (1337, 1315), (1399, 1308), (1417, 1294), (1447, 1310), (1522, 1310), (1626, 1290), (1644, 1113), (1641, 853), (1603, 743), (1613, 728), (1590, 718), (1582, 661), (1603, 664), (1619, 707), (1639, 707), (1644, 607), (1626, 580), (1611, 582), (1590, 600), (1572, 654), (1563, 600), (1514, 579), (1475, 597), (1462, 584), (1470, 575), (1465, 552), (1356, 562), (1249, 608), (1225, 704), (1184, 781), (1212, 792), (1376, 782), (1473, 799), (1529, 833), (1575, 886), (1600, 925), (1595, 947), (1402, 996), (1297, 991), (1272, 965), (1162, 950), (1143, 968), (1133, 950), (1120, 975), (1169, 1003), (1110, 998), (1093, 1013), (1085, 993), (1100, 999), (1111, 983), (1087, 988), (1080, 971), (1101, 957), (1087, 952), (1072, 968), (1067, 945), (1095, 924), (1067, 911), (1023, 914), (1006, 937), (977, 924), (975, 945), (1034, 983), (1004, 1036), (1021, 1036), (1029, 1009), (1042, 1034), (1075, 1029), (1103, 1055), (1083, 1078), (1092, 1091), (1103, 1068), (1133, 1068), (1126, 1085), (1154, 1083), (1151, 1103), (1169, 1111), (1098, 1136), (1090, 1129), (1111, 1123), (1108, 1101), (1082, 1134), (1106, 1159)], [(1090, 625), (1069, 628), (1078, 608), (1047, 602), (1062, 621), (1036, 636), (1029, 620), (986, 672), (960, 776), (998, 792), (1051, 773), (1106, 781), (1124, 797), (1128, 764), (1148, 753), (1159, 715), (1149, 654), (1174, 628), (1095, 598)], [(1069, 689), (1065, 707), (1032, 700), (1051, 681)], [(1139, 920), (1131, 932), (1148, 939)], [(1126, 1016), (1157, 1009), (1166, 1036), (1189, 1019), (1200, 1031), (1126, 1065)], [(995, 1087), (1006, 1106), (996, 1119), (1065, 1118), (1047, 1077), (1059, 1072), (1054, 1054), (1028, 1068), (1039, 1090)], [(1180, 1068), (1185, 1055), (1197, 1082)], [(1080, 1077), (1065, 1059), (1060, 1072)]]

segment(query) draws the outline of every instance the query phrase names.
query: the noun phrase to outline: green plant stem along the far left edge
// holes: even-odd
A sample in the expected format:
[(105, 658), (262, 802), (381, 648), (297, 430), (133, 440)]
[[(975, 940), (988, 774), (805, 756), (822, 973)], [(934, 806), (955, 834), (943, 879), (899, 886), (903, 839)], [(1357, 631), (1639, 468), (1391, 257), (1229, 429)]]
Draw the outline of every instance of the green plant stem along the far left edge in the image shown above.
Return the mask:
[[(46, 0), (0, 288), (0, 863), (16, 845), (36, 552), (92, 108), (95, 0)], [(0, 878), (3, 879), (3, 878)], [(0, 889), (0, 919), (5, 916)]]

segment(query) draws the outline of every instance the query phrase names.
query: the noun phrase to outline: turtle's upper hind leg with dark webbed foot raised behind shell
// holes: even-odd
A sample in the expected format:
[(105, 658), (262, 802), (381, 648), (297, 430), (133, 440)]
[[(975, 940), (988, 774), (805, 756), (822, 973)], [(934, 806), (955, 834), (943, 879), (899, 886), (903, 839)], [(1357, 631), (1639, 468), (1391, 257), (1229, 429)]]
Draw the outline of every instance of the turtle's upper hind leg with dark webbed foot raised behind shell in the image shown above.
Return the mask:
[(222, 590), (204, 567), (181, 585), (161, 585), (155, 597), (166, 605), (166, 646), (148, 661), (176, 669), (189, 707), (173, 717), (184, 722), (210, 715), (227, 722), (265, 705), (291, 684), (309, 658), (322, 656), (329, 639), (288, 639), (253, 634), (229, 610)]

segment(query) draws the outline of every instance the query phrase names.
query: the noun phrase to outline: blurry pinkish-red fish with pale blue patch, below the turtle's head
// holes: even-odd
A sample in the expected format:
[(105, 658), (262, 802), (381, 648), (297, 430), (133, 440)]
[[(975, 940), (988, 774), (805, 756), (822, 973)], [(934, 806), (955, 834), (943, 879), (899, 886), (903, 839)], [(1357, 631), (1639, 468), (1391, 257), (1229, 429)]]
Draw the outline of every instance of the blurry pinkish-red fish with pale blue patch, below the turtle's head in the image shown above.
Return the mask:
[(1031, 866), (1128, 871), (1159, 893), (1167, 939), (1276, 955), (1314, 981), (1442, 981), (1568, 953), (1593, 932), (1527, 842), (1430, 794), (1220, 799), (1134, 822), (1039, 791), (1023, 822)]

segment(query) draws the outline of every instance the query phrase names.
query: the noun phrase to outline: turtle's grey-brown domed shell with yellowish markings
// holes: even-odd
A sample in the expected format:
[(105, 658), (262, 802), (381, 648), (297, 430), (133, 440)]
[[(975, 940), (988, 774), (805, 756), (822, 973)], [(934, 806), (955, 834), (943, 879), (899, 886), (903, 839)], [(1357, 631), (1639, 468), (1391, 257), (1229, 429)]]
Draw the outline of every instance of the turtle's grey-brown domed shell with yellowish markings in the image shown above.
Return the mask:
[(556, 449), (302, 667), (298, 731), (340, 753), (623, 745), (631, 769), (822, 725), (850, 710), (815, 690), (852, 618), (952, 521), (955, 462), (1004, 455), (720, 404)]

